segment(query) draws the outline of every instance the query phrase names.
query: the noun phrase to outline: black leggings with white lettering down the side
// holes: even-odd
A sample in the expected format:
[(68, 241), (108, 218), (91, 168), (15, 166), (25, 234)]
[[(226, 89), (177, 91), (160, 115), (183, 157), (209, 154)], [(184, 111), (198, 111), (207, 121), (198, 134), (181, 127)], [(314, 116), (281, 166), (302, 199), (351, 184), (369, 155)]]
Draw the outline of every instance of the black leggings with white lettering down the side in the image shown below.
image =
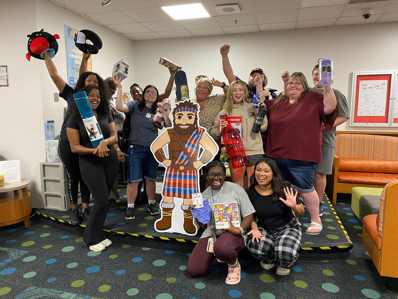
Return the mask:
[(58, 155), (66, 172), (70, 203), (77, 203), (79, 181), (82, 203), (90, 203), (90, 190), (80, 175), (79, 155), (77, 153), (72, 153), (69, 142), (62, 139), (58, 142)]

